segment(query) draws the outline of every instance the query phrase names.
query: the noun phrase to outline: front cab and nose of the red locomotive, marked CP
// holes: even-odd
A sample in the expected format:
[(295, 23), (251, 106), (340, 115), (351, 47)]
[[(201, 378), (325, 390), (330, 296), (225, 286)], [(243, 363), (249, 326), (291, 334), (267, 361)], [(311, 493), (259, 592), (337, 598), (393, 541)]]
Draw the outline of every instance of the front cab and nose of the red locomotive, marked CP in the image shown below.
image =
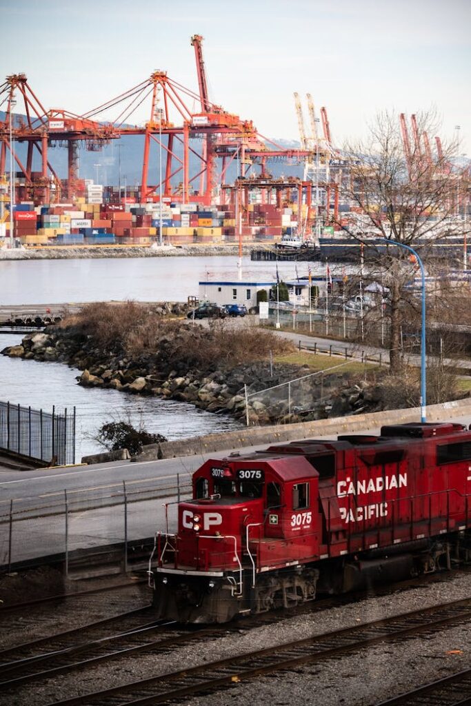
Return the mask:
[[(302, 457), (233, 455), (193, 475), (175, 534), (157, 534), (151, 571), (160, 616), (225, 622), (316, 597), (318, 474)], [(151, 564), (152, 566), (152, 564)]]

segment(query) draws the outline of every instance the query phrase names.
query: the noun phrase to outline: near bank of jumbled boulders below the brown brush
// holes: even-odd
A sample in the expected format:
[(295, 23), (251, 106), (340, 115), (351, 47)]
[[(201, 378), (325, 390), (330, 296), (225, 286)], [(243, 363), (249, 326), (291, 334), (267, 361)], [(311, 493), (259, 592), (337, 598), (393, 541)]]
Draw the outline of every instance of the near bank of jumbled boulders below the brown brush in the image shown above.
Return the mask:
[[(153, 306), (151, 313), (162, 318), (178, 317), (185, 316), (187, 308), (186, 304), (164, 303)], [(186, 320), (180, 323), (181, 345), (205, 345), (208, 328), (191, 325)], [(178, 335), (173, 334), (172, 345)], [(113, 388), (128, 394), (189, 402), (207, 412), (230, 414), (241, 421), (246, 421), (247, 394), (251, 425), (314, 421), (383, 408), (377, 386), (363, 381), (352, 384), (340, 373), (309, 376), (311, 370), (307, 366), (276, 364), (270, 369), (268, 361), (201, 371), (172, 362), (171, 354), (165, 354), (166, 343), (169, 342), (161, 343), (164, 351), (158, 361), (155, 354), (131, 357), (119, 351), (104, 352), (92, 337), (73, 325), (65, 328), (51, 325), (44, 333), (25, 335), (20, 345), (7, 347), (1, 353), (68, 364), (82, 371), (77, 380), (85, 387)], [(290, 385), (290, 391), (287, 385), (282, 385), (303, 376), (306, 377)]]

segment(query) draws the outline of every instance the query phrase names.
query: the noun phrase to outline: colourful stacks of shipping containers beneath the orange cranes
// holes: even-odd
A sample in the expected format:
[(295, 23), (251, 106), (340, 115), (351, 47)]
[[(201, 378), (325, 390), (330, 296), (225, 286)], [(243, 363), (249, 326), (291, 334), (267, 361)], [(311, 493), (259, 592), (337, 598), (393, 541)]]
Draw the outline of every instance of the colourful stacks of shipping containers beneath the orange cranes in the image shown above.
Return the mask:
[[(87, 183), (85, 189), (87, 196), (73, 204), (18, 204), (13, 235), (27, 245), (150, 244), (160, 240), (161, 228), (162, 240), (175, 245), (231, 242), (237, 237), (232, 205), (162, 203), (160, 210), (159, 203), (139, 204), (134, 197), (119, 203), (109, 188), (105, 188), (105, 198), (111, 200), (103, 203), (102, 186)], [(241, 225), (245, 240), (277, 241), (296, 229), (298, 215), (295, 208), (251, 203)]]

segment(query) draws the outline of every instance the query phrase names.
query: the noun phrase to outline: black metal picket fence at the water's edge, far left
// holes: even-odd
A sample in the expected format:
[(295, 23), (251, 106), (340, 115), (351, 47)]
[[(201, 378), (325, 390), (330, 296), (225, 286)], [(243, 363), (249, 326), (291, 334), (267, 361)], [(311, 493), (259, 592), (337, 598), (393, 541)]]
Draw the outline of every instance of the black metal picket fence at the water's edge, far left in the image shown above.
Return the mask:
[(75, 462), (76, 408), (57, 414), (0, 402), (0, 448), (52, 465)]

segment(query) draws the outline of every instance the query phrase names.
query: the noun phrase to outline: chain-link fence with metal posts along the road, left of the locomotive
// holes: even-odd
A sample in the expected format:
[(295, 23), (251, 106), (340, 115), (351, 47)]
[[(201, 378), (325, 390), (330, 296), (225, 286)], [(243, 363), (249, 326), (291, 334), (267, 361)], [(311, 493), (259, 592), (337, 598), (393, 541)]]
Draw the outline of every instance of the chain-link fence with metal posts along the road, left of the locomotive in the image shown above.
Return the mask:
[[(165, 528), (165, 503), (190, 496), (190, 474), (176, 474), (4, 501), (0, 503), (0, 570), (9, 572), (48, 556), (64, 562), (68, 574), (81, 564), (81, 554), (117, 544), (126, 570), (131, 544)], [(172, 515), (170, 532), (176, 529), (174, 524)]]

